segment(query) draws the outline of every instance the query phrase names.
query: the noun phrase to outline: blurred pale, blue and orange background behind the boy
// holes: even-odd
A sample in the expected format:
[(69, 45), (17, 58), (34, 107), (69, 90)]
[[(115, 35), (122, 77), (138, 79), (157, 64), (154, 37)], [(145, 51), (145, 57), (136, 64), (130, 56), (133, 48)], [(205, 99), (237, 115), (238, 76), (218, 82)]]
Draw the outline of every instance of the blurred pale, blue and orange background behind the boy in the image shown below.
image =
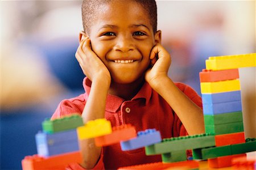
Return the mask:
[[(255, 53), (255, 1), (157, 1), (169, 76), (200, 94), (210, 56)], [(75, 58), (81, 1), (1, 0), (1, 167), (21, 169), (61, 100), (84, 92)], [(246, 137), (256, 138), (256, 71), (240, 69)]]

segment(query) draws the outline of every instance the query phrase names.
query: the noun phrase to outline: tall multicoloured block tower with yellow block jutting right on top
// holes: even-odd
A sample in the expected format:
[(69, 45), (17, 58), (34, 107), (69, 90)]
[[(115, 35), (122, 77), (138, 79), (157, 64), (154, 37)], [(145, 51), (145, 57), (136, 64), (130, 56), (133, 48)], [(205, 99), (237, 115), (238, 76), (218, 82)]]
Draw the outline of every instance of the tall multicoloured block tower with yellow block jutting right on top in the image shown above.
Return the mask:
[[(206, 155), (209, 167), (228, 167), (232, 158), (246, 152), (237, 151), (236, 148), (251, 145), (245, 143), (243, 132), (238, 68), (255, 67), (256, 54), (209, 57), (205, 63), (206, 69), (199, 74), (205, 132), (214, 133), (216, 142), (216, 148), (210, 148)], [(221, 152), (218, 152), (219, 149)], [(207, 153), (207, 149), (204, 152)], [(214, 153), (212, 158), (210, 153)], [(193, 151), (193, 154), (196, 155), (196, 152)]]

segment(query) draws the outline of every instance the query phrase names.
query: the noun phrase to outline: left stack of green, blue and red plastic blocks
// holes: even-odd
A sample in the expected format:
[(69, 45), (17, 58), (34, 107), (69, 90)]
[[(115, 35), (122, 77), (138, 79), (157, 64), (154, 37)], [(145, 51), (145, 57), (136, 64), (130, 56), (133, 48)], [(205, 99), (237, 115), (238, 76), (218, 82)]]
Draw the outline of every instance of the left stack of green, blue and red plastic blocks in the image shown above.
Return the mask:
[(22, 169), (65, 169), (68, 164), (81, 163), (76, 128), (82, 125), (78, 114), (53, 121), (47, 118), (42, 124), (43, 132), (35, 136), (38, 154), (26, 156)]

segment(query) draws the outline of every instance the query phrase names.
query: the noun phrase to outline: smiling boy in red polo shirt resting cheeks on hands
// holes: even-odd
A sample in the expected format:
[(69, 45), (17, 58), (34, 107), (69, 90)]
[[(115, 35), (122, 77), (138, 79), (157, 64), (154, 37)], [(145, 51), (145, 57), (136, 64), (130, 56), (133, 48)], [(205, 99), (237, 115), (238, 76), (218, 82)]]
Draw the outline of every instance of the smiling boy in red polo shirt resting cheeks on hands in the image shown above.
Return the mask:
[[(154, 0), (83, 1), (82, 19), (76, 58), (86, 75), (85, 94), (62, 101), (52, 118), (80, 113), (84, 122), (106, 118), (112, 126), (155, 128), (162, 138), (204, 133), (200, 96), (167, 75), (171, 58), (160, 45)], [(143, 148), (101, 148), (94, 139), (80, 141), (80, 148), (86, 169), (161, 162)]]

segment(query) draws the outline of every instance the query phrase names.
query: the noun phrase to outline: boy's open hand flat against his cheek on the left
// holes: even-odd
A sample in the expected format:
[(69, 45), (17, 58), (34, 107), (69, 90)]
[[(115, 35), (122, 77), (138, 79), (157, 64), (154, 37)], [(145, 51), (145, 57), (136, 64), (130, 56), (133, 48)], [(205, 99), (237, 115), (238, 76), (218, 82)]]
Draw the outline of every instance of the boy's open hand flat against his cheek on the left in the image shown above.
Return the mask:
[(111, 81), (109, 70), (100, 58), (93, 52), (90, 46), (90, 39), (85, 37), (81, 40), (79, 48), (76, 51), (76, 59), (82, 69), (82, 72), (93, 82), (96, 79), (108, 79)]

